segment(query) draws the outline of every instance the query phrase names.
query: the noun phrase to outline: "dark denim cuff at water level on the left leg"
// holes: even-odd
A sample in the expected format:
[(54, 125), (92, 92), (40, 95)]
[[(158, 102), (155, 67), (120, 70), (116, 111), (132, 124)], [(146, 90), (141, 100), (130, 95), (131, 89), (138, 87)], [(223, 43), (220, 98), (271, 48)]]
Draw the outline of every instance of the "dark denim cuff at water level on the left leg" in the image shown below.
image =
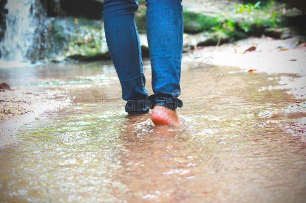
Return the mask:
[(125, 104), (125, 112), (132, 115), (148, 113), (149, 112), (149, 100), (128, 100)]

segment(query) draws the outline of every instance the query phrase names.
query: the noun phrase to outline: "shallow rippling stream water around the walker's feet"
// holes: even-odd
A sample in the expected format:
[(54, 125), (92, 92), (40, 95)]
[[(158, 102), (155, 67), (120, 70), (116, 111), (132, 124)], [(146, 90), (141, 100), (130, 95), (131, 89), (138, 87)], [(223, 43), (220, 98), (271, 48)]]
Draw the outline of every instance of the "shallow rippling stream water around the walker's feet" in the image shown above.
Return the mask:
[[(306, 145), (285, 130), (304, 114), (286, 110), (296, 100), (284, 90), (259, 91), (280, 75), (219, 70), (216, 82), (183, 68), (179, 127), (126, 115), (108, 63), (3, 71), (19, 85), (65, 90), (73, 104), (0, 150), (1, 201), (304, 202)], [(145, 75), (151, 93), (147, 62)]]

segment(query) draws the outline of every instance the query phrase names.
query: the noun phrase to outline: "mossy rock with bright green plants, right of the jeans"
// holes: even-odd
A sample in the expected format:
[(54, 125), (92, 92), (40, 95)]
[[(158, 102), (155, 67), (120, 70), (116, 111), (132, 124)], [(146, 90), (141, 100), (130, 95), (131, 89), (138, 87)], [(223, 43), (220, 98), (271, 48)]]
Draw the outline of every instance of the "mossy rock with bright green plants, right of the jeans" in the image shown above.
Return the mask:
[[(286, 25), (283, 18), (285, 7), (280, 3), (262, 3), (260, 9), (250, 9), (249, 5), (247, 7), (238, 1), (220, 1), (218, 5), (204, 0), (192, 2), (185, 3), (183, 12), (184, 32), (188, 34), (221, 32), (232, 40), (239, 40), (261, 36), (265, 28)], [(291, 12), (291, 9), (286, 12)]]

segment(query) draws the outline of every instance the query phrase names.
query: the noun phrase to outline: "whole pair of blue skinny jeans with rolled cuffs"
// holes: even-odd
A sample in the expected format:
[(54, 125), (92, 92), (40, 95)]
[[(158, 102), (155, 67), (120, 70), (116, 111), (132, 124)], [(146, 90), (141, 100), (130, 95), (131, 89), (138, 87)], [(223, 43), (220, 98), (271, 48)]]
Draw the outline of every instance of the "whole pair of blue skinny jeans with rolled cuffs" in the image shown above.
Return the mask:
[(183, 52), (182, 0), (146, 0), (146, 35), (152, 68), (148, 96), (142, 69), (135, 12), (137, 0), (105, 0), (104, 30), (110, 57), (127, 101), (129, 114), (147, 113), (155, 105), (175, 110), (182, 107), (181, 60)]

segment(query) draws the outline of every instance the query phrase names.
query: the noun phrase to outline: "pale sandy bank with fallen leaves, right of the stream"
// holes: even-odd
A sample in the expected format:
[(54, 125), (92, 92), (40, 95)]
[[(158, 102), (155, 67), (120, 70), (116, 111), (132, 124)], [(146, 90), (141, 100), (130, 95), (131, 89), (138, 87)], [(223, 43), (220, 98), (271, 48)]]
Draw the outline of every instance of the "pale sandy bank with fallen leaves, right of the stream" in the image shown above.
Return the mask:
[[(284, 111), (294, 121), (286, 132), (306, 142), (306, 46), (297, 45), (298, 38), (275, 40), (269, 37), (249, 38), (220, 47), (198, 47), (183, 57), (183, 66), (196, 63), (204, 72), (220, 80), (223, 73), (215, 67), (238, 67), (250, 74), (283, 74), (279, 85), (262, 87), (258, 91), (286, 90), (297, 101)], [(273, 80), (271, 78), (271, 80)]]

